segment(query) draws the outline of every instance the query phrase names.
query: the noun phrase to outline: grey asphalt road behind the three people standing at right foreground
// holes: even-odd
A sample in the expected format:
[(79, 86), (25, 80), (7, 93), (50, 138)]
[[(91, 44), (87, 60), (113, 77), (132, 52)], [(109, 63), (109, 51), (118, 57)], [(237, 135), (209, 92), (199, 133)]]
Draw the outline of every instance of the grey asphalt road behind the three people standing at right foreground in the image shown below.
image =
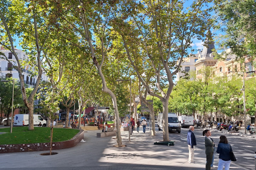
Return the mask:
[[(157, 130), (157, 128), (156, 128)], [(169, 139), (186, 143), (186, 133), (188, 128), (182, 128), (181, 133), (169, 133)], [(195, 129), (194, 134), (197, 140), (197, 146), (199, 149), (204, 150), (204, 136), (202, 135), (203, 129)], [(236, 156), (236, 164), (241, 167), (245, 167), (250, 170), (255, 170), (254, 152), (256, 151), (256, 139), (246, 136), (237, 136), (228, 133), (221, 133), (219, 131), (212, 130), (212, 139), (218, 147), (219, 136), (225, 135), (228, 142), (231, 144), (233, 152)], [(196, 151), (195, 151), (196, 152)], [(215, 154), (215, 160), (218, 160), (218, 153)]]

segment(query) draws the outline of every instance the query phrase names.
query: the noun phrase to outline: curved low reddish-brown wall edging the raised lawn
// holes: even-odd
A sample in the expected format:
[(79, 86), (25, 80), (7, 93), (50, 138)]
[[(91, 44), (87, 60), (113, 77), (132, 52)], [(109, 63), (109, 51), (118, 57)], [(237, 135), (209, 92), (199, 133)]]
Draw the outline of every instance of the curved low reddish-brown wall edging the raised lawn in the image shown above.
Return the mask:
[[(66, 149), (76, 146), (84, 139), (84, 130), (80, 130), (72, 139), (62, 142), (52, 142), (52, 150)], [(34, 143), (34, 144), (1, 144), (0, 153), (13, 152), (32, 152), (50, 150), (50, 143)]]

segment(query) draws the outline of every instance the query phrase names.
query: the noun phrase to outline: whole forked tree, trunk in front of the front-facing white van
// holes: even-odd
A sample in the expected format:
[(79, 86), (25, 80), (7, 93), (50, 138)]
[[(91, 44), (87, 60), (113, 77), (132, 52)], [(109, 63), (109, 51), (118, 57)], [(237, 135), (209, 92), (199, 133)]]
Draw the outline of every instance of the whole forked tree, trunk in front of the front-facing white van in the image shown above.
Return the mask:
[[(192, 39), (202, 39), (211, 24), (210, 9), (205, 6), (208, 2), (192, 1), (185, 7), (183, 1), (175, 0), (125, 1), (129, 6), (124, 5), (122, 13), (118, 13), (113, 21), (141, 83), (148, 94), (159, 98), (163, 103), (164, 141), (169, 141), (168, 105), (174, 86), (173, 77), (179, 71), (180, 61), (188, 55), (187, 50), (191, 47)], [(137, 48), (139, 50), (134, 53), (133, 49)], [(142, 77), (144, 73), (135, 64), (141, 60), (150, 63), (154, 69), (154, 83), (150, 85), (145, 83)], [(152, 88), (158, 92), (152, 92)], [(164, 91), (165, 88), (167, 91)]]

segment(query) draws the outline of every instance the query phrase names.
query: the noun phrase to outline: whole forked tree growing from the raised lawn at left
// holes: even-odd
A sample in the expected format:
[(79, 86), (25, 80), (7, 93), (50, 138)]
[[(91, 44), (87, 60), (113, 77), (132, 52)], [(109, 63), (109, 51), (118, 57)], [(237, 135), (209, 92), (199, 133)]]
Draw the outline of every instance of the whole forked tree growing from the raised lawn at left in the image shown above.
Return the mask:
[[(43, 6), (45, 3), (4, 0), (0, 4), (0, 32), (3, 35), (0, 43), (15, 56), (16, 63), (6, 56), (4, 58), (18, 71), (23, 102), (29, 111), (29, 130), (34, 129), (34, 97), (42, 76), (41, 53), (46, 45), (45, 41), (53, 31), (53, 23), (55, 23), (54, 18), (49, 15), (49, 7)], [(23, 49), (29, 55), (28, 62), (18, 58), (13, 43), (14, 37), (20, 38)], [(32, 76), (37, 76), (35, 86), (29, 96), (26, 94), (26, 86), (22, 75), (25, 65), (35, 70)]]

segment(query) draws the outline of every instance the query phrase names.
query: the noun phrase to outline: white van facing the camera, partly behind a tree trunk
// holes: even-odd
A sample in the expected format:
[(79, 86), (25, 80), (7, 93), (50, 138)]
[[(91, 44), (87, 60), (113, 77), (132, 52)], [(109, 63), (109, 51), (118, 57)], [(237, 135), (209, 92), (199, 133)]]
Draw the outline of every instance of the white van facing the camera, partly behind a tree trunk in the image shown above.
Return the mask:
[[(163, 113), (159, 113), (157, 118), (158, 130), (163, 129)], [(181, 127), (178, 117), (175, 113), (168, 113), (168, 131), (180, 133)]]

